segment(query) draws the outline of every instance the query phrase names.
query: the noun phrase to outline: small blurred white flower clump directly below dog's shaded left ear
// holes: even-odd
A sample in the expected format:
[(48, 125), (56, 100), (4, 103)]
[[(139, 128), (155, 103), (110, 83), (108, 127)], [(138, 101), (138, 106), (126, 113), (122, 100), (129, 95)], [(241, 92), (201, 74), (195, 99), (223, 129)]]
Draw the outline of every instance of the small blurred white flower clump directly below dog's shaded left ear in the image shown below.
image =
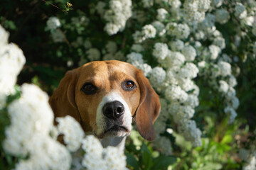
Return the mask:
[(59, 134), (64, 135), (64, 142), (68, 149), (71, 152), (78, 150), (85, 135), (80, 124), (70, 115), (65, 118), (56, 118), (56, 121)]

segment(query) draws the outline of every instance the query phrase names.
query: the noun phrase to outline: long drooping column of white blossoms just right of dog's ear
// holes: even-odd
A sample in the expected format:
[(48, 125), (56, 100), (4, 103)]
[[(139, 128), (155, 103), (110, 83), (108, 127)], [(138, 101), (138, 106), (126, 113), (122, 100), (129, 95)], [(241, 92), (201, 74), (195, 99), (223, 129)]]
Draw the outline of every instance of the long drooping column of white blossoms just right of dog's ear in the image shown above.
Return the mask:
[[(196, 128), (196, 122), (190, 120), (198, 106), (198, 86), (191, 79), (197, 77), (199, 72), (193, 60), (196, 58), (196, 50), (191, 45), (184, 45), (181, 40), (172, 41), (168, 45), (156, 42), (153, 56), (156, 57), (162, 67), (152, 69), (149, 81), (160, 93), (164, 93), (166, 99), (161, 99), (161, 113), (156, 120), (155, 128), (159, 133), (165, 130), (165, 121), (169, 114), (178, 125), (178, 131), (192, 142), (193, 146), (201, 145), (201, 131)], [(181, 53), (182, 52), (182, 53)], [(193, 91), (193, 92), (191, 92)], [(170, 104), (168, 104), (170, 103)], [(157, 135), (161, 141), (161, 136)], [(156, 142), (156, 145), (159, 142)]]

